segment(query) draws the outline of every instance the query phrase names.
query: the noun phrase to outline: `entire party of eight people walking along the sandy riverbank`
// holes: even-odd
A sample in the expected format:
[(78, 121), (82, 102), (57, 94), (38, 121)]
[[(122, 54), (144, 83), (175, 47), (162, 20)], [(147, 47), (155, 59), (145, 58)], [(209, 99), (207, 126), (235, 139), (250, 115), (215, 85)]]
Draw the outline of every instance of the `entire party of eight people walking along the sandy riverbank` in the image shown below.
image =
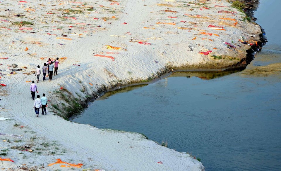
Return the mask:
[[(46, 80), (46, 74), (49, 74), (49, 81), (53, 78), (53, 71), (54, 75), (58, 74), (58, 67), (59, 67), (59, 58), (57, 57), (56, 60), (52, 61), (51, 58), (48, 59), (47, 63), (44, 63), (44, 66), (42, 67), (42, 73), (43, 73), (43, 81)], [(39, 83), (39, 77), (41, 74), (40, 65), (37, 66), (35, 75), (37, 76), (37, 83)], [(48, 76), (48, 75), (47, 75)], [(31, 98), (34, 100), (35, 98), (35, 92), (37, 91), (37, 85), (34, 81), (32, 81), (32, 84), (30, 85), (30, 92), (31, 92)], [(47, 115), (46, 107), (47, 104), (47, 97), (45, 97), (45, 93), (42, 94), (42, 97), (40, 99), (40, 95), (37, 95), (37, 99), (34, 101), (33, 108), (36, 113), (36, 117), (39, 116), (40, 108), (42, 109), (42, 115)]]

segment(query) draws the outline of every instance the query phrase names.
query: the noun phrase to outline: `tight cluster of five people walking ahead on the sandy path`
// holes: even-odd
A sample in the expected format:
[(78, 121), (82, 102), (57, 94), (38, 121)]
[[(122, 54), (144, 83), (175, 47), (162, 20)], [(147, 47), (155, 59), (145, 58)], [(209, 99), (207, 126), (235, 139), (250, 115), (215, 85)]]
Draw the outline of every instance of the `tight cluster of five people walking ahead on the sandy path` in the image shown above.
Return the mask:
[[(44, 63), (44, 66), (42, 67), (43, 81), (46, 80), (46, 74), (49, 74), (49, 81), (51, 81), (53, 78), (53, 72), (54, 75), (58, 74), (58, 68), (59, 68), (59, 58), (57, 57), (56, 60), (54, 61), (52, 61), (51, 58), (49, 58), (47, 63)], [(35, 75), (37, 76), (37, 83), (39, 83), (40, 74), (41, 74), (40, 65), (38, 65), (35, 71)]]

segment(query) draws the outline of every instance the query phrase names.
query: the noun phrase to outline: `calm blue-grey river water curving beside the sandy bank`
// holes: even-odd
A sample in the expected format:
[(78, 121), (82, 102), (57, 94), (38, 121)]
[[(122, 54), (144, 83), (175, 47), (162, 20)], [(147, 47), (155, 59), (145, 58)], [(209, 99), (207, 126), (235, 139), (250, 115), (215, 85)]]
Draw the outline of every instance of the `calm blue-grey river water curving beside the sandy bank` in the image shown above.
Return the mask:
[(280, 6), (261, 0), (255, 16), (268, 43), (243, 71), (176, 72), (108, 92), (73, 121), (167, 141), (207, 171), (280, 170)]

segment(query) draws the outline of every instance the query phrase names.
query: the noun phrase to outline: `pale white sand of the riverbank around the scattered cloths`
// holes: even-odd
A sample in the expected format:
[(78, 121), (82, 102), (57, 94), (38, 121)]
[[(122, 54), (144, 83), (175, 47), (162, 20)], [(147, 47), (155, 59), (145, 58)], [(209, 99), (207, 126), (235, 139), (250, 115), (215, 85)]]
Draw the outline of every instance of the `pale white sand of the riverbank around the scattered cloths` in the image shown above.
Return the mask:
[[(10, 149), (4, 157), (15, 161), (14, 163), (0, 161), (0, 168), (17, 170), (20, 167), (37, 167), (40, 170), (39, 167), (44, 164), (41, 170), (69, 170), (59, 165), (47, 166), (55, 162), (55, 159), (61, 158), (69, 163), (82, 163), (82, 168), (92, 170), (204, 170), (202, 163), (188, 154), (160, 146), (137, 133), (101, 130), (89, 125), (71, 123), (54, 116), (52, 113), (54, 109), (50, 107), (47, 107), (47, 116), (40, 114), (40, 117), (36, 118), (32, 108), (34, 101), (30, 98), (30, 82), (26, 82), (36, 81), (36, 76), (23, 74), (34, 71), (37, 65), (42, 68), (42, 64), (47, 62), (46, 58), (41, 60), (42, 57), (52, 59), (67, 57), (64, 61), (60, 60), (59, 74), (53, 76), (51, 82), (48, 79), (43, 82), (40, 75), (40, 82), (37, 83), (39, 93), (36, 95), (42, 96), (42, 93), (46, 93), (48, 100), (51, 100), (48, 102), (49, 106), (58, 104), (62, 107), (62, 103), (66, 102), (62, 102), (59, 95), (55, 93), (60, 87), (64, 87), (64, 90), (83, 100), (85, 95), (92, 96), (101, 87), (111, 89), (117, 83), (127, 85), (132, 81), (145, 80), (154, 77), (157, 72), (167, 67), (229, 67), (238, 63), (241, 58), (245, 58), (245, 50), (250, 48), (240, 43), (238, 39), (243, 37), (244, 40), (253, 40), (252, 42), (259, 39), (260, 27), (243, 21), (244, 14), (230, 7), (225, 1), (210, 0), (206, 2), (207, 4), (196, 0), (169, 1), (122, 0), (118, 1), (120, 5), (110, 5), (112, 1), (105, 0), (48, 0), (28, 1), (28, 3), (1, 0), (0, 57), (8, 57), (8, 59), (0, 59), (2, 64), (0, 72), (6, 74), (0, 75), (0, 83), (7, 85), (0, 87), (0, 118), (11, 118), (11, 120), (0, 121), (0, 133), (24, 136), (22, 142), (15, 142), (17, 140), (15, 137), (0, 135), (0, 150)], [(43, 5), (40, 5), (42, 2)], [(228, 7), (215, 7), (215, 5)], [(203, 6), (209, 9), (204, 9)], [(92, 11), (85, 10), (90, 7), (93, 7)], [(25, 10), (27, 8), (36, 11), (29, 10), (28, 13)], [(10, 11), (5, 11), (7, 9)], [(69, 11), (64, 11), (65, 9), (82, 11), (67, 13)], [(232, 10), (237, 14), (217, 13), (222, 9)], [(24, 16), (15, 17), (16, 14)], [(192, 18), (184, 14), (202, 15), (208, 18)], [(112, 16), (116, 18), (112, 19)], [(168, 16), (177, 18), (168, 18)], [(64, 17), (75, 17), (77, 20)], [(106, 21), (102, 19), (104, 17), (107, 17)], [(220, 19), (222, 17), (236, 19), (237, 25), (234, 25), (236, 21)], [(15, 23), (20, 24), (22, 21), (32, 22), (33, 25), (19, 26)], [(124, 22), (127, 24), (122, 24)], [(175, 22), (176, 25), (156, 24), (157, 22)], [(97, 27), (98, 25), (101, 27)], [(223, 26), (226, 31), (209, 29), (209, 25)], [(23, 32), (18, 30), (20, 27), (31, 27), (32, 30)], [(178, 27), (190, 29), (178, 29)], [(202, 35), (199, 34), (200, 32), (220, 36)], [(62, 37), (61, 34), (67, 37)], [(192, 40), (194, 37), (197, 38)], [(56, 38), (71, 38), (71, 40)], [(130, 40), (136, 42), (129, 42)], [(139, 44), (140, 40), (151, 44)], [(237, 48), (228, 48), (224, 42), (231, 43)], [(59, 45), (60, 43), (63, 45)], [(123, 49), (105, 49), (105, 45), (123, 47)], [(26, 47), (28, 50), (24, 51)], [(212, 50), (212, 53), (199, 54), (208, 50)], [(119, 54), (106, 54), (106, 52)], [(96, 54), (112, 56), (115, 60), (94, 56)], [(222, 55), (222, 59), (214, 59), (212, 55)], [(18, 65), (14, 69), (22, 68), (24, 71), (10, 74), (12, 71), (8, 69), (13, 67), (8, 65), (11, 64)], [(83, 87), (84, 93), (80, 91)], [(13, 126), (15, 123), (19, 126)], [(23, 127), (20, 127), (21, 125)], [(2, 140), (6, 141), (2, 142)], [(31, 144), (30, 149), (33, 152), (11, 149), (12, 146), (25, 144)], [(157, 163), (159, 161), (163, 164)]]

